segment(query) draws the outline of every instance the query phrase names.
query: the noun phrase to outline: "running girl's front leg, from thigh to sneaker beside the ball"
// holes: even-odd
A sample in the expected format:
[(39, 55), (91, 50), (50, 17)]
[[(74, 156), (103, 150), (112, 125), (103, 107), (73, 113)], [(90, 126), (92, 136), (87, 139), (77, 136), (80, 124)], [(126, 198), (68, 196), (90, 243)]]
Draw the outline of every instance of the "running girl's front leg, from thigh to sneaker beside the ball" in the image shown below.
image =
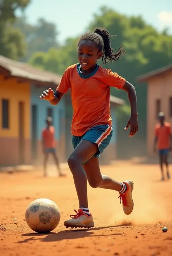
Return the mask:
[(89, 213), (87, 199), (87, 177), (82, 164), (89, 160), (98, 151), (98, 145), (87, 140), (79, 142), (73, 153), (67, 160), (73, 174), (75, 188), (79, 200), (79, 210), (76, 215), (70, 215), (72, 219), (66, 220), (64, 225), (68, 227), (94, 227), (93, 216)]

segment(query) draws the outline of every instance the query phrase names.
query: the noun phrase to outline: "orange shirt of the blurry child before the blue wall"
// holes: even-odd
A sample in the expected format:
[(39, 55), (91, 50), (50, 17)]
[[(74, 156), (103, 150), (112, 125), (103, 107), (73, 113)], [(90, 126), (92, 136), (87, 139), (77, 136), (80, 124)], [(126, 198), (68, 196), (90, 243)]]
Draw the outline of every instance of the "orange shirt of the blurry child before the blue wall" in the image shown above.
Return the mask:
[(55, 139), (55, 129), (50, 126), (49, 129), (45, 128), (42, 130), (42, 138), (44, 139), (44, 146), (46, 149), (54, 149), (56, 147)]

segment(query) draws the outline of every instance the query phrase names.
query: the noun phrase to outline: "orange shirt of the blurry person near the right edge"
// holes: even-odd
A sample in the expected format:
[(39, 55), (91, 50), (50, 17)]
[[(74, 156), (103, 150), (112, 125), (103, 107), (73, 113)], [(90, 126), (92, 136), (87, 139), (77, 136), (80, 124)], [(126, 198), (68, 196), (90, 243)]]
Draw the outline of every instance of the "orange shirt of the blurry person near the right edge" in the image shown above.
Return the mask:
[(170, 135), (171, 135), (171, 125), (165, 122), (163, 126), (157, 124), (155, 126), (155, 136), (157, 137), (157, 147), (158, 149), (169, 149), (170, 147)]

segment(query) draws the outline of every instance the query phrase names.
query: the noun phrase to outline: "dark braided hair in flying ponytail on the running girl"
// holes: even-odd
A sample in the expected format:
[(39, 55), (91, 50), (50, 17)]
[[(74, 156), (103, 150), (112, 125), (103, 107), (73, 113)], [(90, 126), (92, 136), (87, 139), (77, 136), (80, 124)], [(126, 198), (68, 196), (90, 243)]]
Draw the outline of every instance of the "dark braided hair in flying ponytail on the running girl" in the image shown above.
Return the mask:
[[(94, 32), (87, 32), (83, 34), (78, 42), (78, 45), (81, 40), (89, 40), (94, 42), (99, 52), (102, 52), (102, 61), (104, 64), (108, 64), (108, 61), (116, 61), (120, 58), (121, 54), (124, 54), (122, 46), (118, 49), (117, 52), (113, 53), (113, 49), (111, 48), (110, 42), (110, 33), (103, 28), (97, 28)], [(112, 37), (113, 38), (113, 37)]]

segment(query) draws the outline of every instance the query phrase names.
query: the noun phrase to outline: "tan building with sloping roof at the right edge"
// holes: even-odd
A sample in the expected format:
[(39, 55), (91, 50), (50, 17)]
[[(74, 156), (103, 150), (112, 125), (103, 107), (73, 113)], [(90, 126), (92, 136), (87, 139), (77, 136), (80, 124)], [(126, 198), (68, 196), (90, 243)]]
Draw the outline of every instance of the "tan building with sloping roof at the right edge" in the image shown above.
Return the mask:
[(147, 82), (147, 155), (153, 156), (154, 129), (160, 111), (172, 125), (172, 64), (138, 77)]

